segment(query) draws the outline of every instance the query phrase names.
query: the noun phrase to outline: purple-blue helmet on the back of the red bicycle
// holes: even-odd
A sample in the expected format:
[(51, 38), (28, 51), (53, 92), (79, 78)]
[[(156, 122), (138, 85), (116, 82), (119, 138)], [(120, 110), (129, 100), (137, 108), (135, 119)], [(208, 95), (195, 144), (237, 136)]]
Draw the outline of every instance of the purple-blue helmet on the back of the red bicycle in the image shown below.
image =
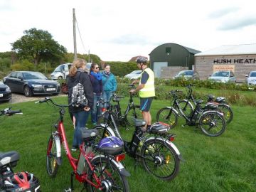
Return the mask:
[(106, 154), (119, 154), (124, 146), (124, 142), (118, 137), (110, 136), (104, 137), (98, 144), (98, 149)]

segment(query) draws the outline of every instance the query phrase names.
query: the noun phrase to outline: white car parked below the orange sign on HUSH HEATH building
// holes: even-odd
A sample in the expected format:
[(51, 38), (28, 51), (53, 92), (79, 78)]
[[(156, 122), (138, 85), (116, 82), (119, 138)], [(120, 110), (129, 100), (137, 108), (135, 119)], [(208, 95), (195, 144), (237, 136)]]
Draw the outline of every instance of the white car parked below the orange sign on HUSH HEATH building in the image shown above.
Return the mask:
[(236, 82), (235, 80), (235, 74), (232, 70), (218, 70), (215, 71), (208, 80), (215, 80), (217, 82)]

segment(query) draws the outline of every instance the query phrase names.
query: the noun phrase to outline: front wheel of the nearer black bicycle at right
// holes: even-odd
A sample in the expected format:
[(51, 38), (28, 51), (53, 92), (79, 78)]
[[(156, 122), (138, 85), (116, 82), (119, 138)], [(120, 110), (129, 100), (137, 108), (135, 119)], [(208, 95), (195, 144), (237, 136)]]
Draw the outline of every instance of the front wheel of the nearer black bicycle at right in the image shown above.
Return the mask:
[(178, 115), (174, 110), (168, 107), (160, 109), (156, 114), (156, 122), (164, 122), (174, 128), (178, 122)]

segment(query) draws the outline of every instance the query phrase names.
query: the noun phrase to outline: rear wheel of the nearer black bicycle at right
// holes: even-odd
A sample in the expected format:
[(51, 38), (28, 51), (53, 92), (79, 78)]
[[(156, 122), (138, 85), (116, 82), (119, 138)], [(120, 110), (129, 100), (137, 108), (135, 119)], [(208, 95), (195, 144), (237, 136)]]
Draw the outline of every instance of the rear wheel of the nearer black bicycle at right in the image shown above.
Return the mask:
[(218, 137), (225, 132), (225, 119), (221, 114), (218, 114), (218, 112), (203, 112), (201, 117), (199, 117), (198, 123), (203, 134), (209, 137)]

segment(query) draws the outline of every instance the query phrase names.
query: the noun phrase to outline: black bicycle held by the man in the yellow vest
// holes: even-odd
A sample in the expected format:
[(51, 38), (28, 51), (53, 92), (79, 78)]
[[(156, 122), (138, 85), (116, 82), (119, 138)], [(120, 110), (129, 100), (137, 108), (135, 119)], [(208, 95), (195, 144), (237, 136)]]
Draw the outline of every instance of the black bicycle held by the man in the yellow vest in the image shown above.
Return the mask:
[[(129, 87), (135, 88), (134, 85), (129, 85)], [(122, 114), (119, 102), (124, 97), (118, 96), (116, 94), (112, 96), (112, 101), (116, 103), (115, 105), (112, 105), (112, 112), (113, 112), (114, 121), (118, 127), (122, 126), (129, 129), (127, 125), (130, 127), (134, 127), (135, 125), (133, 118), (143, 119), (140, 106), (134, 104), (133, 97), (134, 97), (134, 94), (130, 92), (127, 109), (125, 110), (124, 114)], [(100, 124), (102, 122), (102, 116), (100, 116), (98, 119), (99, 119), (98, 124)]]

